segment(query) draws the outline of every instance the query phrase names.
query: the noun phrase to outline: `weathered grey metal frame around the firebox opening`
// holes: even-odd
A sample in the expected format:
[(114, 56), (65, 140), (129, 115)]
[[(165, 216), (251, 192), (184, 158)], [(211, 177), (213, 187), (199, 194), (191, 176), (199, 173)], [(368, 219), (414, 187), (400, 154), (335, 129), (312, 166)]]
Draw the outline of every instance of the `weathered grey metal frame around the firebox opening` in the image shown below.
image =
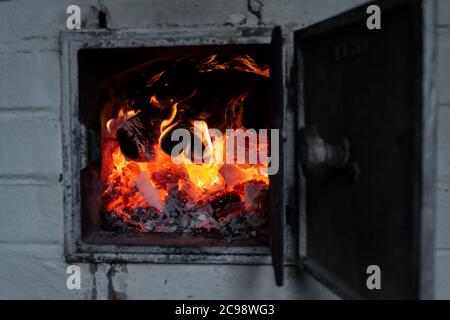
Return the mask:
[[(271, 264), (267, 246), (239, 246), (239, 241), (226, 246), (148, 245), (140, 237), (115, 241), (97, 232), (92, 241), (82, 235), (80, 172), (88, 161), (88, 132), (80, 121), (78, 52), (81, 49), (271, 45), (272, 27), (207, 28), (168, 30), (86, 30), (62, 32), (63, 70), (63, 150), (64, 150), (64, 209), (65, 253), (68, 261), (83, 262), (153, 262), (153, 263), (217, 263)], [(284, 60), (284, 57), (282, 57)], [(282, 61), (281, 63), (284, 63)], [(284, 74), (283, 74), (284, 76)], [(286, 94), (283, 90), (283, 95)], [(285, 106), (281, 114), (284, 115)], [(283, 148), (283, 145), (280, 146)], [(280, 170), (283, 166), (280, 165)], [(271, 182), (272, 186), (272, 182)], [(272, 187), (271, 187), (272, 188)], [(285, 212), (278, 212), (284, 216)], [(103, 239), (103, 240), (102, 240)], [(235, 243), (235, 245), (233, 245)], [(163, 242), (162, 242), (163, 244)], [(293, 259), (287, 259), (292, 263)]]

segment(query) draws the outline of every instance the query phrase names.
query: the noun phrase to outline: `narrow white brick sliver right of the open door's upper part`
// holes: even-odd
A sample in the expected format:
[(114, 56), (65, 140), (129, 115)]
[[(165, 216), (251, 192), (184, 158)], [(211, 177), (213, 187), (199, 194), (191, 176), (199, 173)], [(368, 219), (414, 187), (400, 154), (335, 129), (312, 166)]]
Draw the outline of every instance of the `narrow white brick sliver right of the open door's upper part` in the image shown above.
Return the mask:
[(450, 104), (450, 28), (438, 29), (439, 102)]

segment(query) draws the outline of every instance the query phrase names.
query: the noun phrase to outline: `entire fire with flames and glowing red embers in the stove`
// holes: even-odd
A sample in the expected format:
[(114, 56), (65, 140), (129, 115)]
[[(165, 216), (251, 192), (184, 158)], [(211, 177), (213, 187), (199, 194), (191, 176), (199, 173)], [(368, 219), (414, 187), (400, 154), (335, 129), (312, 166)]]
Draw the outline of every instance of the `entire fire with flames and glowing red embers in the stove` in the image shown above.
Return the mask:
[[(198, 71), (212, 72), (231, 68), (256, 73), (263, 77), (269, 76), (269, 69), (258, 66), (249, 56), (238, 56), (224, 63), (219, 61), (217, 55), (212, 55), (198, 66)], [(163, 72), (154, 75), (146, 85), (151, 86), (162, 75)], [(105, 137), (113, 138), (102, 140), (102, 170), (106, 173), (102, 175), (106, 177), (103, 181), (105, 187), (102, 193), (102, 201), (103, 208), (106, 211), (113, 212), (127, 221), (133, 220), (131, 212), (136, 208), (153, 208), (155, 214), (162, 215), (166, 206), (169, 205), (168, 202), (172, 201), (170, 199), (173, 198), (174, 192), (181, 192), (183, 196), (180, 196), (180, 199), (187, 197), (189, 206), (196, 206), (205, 202), (211, 202), (211, 205), (213, 203), (215, 205), (214, 197), (226, 192), (237, 195), (236, 197), (242, 201), (242, 205), (232, 202), (236, 205), (231, 209), (226, 209), (226, 205), (225, 209), (215, 209), (216, 211), (219, 210), (217, 212), (221, 212), (220, 214), (225, 214), (222, 213), (224, 211), (239, 215), (240, 212), (243, 212), (243, 208), (248, 208), (248, 210), (253, 208), (252, 201), (256, 201), (254, 200), (256, 199), (255, 192), (258, 192), (262, 187), (267, 189), (269, 185), (269, 177), (261, 174), (259, 170), (267, 164), (224, 164), (227, 135), (224, 134), (221, 138), (211, 135), (208, 120), (195, 118), (191, 118), (189, 121), (181, 120), (181, 117), (185, 114), (183, 108), (186, 108), (184, 101), (194, 95), (195, 91), (190, 97), (178, 102), (174, 102), (172, 99), (165, 100), (169, 101), (169, 105), (161, 103), (156, 94), (148, 98), (149, 104), (158, 110), (171, 108), (170, 112), (165, 111), (168, 116), (160, 120), (160, 135), (158, 142), (153, 146), (154, 156), (148, 161), (130, 160), (129, 157), (124, 155), (117, 141), (114, 140), (117, 131), (130, 119), (140, 116), (141, 110), (126, 110), (125, 107), (122, 107), (115, 117), (106, 121)], [(246, 98), (247, 94), (244, 93), (240, 96), (230, 97), (229, 101), (224, 101), (224, 108), (228, 108), (230, 111), (225, 114), (223, 120), (231, 128), (244, 127), (242, 124), (242, 105)], [(194, 121), (198, 124), (195, 135), (203, 143), (202, 155), (205, 156), (205, 161), (197, 163), (195, 159), (188, 158), (182, 153), (180, 157), (183, 158), (183, 161), (177, 164), (167, 154), (167, 151), (165, 152), (162, 149), (161, 142), (180, 123), (193, 124)], [(144, 120), (142, 120), (142, 123), (144, 126), (149, 125)], [(267, 143), (259, 142), (256, 147), (266, 148), (267, 146)], [(192, 150), (193, 146), (190, 147)], [(234, 196), (230, 197), (233, 198)], [(233, 201), (236, 201), (236, 199)], [(255, 208), (257, 208), (256, 205)], [(225, 217), (221, 221), (225, 221), (224, 219)], [(202, 225), (207, 225), (207, 223), (204, 222)], [(207, 227), (210, 228), (211, 226), (208, 225)], [(141, 231), (145, 229), (141, 224), (137, 228)]]

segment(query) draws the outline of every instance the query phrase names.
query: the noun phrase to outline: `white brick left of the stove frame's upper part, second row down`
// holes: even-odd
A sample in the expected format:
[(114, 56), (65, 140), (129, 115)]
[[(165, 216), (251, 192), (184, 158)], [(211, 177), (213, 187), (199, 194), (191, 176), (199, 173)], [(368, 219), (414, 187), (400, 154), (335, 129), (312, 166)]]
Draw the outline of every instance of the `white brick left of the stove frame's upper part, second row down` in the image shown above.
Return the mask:
[(60, 57), (57, 52), (0, 54), (1, 108), (58, 110), (60, 105)]

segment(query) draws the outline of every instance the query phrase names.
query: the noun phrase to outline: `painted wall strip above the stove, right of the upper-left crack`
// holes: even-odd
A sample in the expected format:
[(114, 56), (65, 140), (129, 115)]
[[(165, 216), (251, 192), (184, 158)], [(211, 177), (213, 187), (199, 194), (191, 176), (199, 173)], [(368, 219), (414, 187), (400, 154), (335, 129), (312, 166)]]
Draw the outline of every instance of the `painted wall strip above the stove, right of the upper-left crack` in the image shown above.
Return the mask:
[(242, 14), (246, 24), (258, 22), (247, 10), (248, 3), (262, 3), (262, 23), (304, 26), (331, 17), (366, 0), (228, 0), (226, 6), (210, 0), (146, 1), (135, 0), (130, 5), (120, 0), (102, 1), (111, 18), (109, 26), (136, 28), (149, 25), (224, 25), (232, 15)]

